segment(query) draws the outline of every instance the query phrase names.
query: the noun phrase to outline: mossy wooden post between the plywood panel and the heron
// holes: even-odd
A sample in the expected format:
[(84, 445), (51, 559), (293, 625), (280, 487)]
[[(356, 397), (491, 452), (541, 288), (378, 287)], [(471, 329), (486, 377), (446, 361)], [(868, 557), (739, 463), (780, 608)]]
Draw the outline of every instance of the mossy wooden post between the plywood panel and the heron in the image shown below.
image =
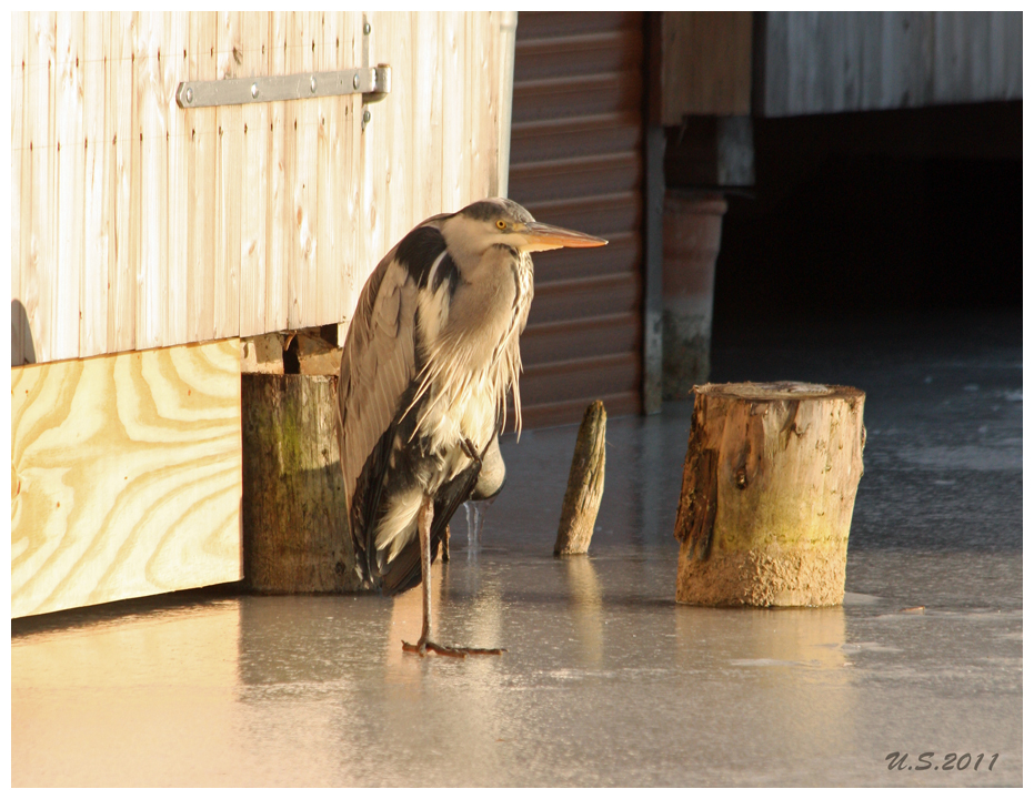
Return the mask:
[(244, 580), (267, 594), (360, 587), (338, 453), (338, 378), (241, 375)]

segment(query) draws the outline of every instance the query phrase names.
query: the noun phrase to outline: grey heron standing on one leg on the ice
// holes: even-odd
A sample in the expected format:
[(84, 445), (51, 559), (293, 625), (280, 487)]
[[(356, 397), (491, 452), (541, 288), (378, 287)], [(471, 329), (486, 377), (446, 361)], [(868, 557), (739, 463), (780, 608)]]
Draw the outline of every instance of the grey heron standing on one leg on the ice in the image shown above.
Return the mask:
[(521, 424), (530, 253), (603, 244), (511, 200), (482, 200), (420, 223), (360, 294), (338, 384), (349, 529), (365, 586), (392, 595), (423, 584), (409, 651), (501, 651), (432, 640), (431, 563), (459, 505), (494, 496), (505, 478), (499, 434), (511, 391)]

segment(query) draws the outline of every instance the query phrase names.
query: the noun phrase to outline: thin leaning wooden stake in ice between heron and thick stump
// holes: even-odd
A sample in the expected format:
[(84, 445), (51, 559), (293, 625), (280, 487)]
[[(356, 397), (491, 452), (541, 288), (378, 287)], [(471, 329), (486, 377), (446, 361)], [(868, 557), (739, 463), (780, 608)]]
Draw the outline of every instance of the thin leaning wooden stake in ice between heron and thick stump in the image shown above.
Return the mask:
[(592, 530), (603, 498), (605, 465), (606, 409), (600, 400), (585, 408), (582, 426), (574, 443), (571, 475), (560, 512), (554, 555), (584, 555), (589, 552)]

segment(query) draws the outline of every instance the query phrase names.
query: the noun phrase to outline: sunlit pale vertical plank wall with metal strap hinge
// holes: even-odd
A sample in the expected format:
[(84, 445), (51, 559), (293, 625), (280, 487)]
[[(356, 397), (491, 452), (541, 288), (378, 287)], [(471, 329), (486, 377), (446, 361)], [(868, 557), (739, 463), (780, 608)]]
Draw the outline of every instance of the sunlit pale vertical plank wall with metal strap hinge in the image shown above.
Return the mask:
[(344, 321), (410, 227), (494, 194), (500, 16), (367, 19), (363, 130), (359, 95), (174, 99), (360, 65), (361, 12), (16, 13), (12, 365)]

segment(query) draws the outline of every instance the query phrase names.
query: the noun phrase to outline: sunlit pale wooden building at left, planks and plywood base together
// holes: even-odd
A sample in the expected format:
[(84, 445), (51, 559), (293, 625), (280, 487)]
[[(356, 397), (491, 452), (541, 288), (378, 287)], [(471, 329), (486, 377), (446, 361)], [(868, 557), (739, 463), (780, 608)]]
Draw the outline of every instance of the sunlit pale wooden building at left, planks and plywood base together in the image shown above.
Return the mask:
[[(505, 19), (12, 17), (14, 616), (240, 579), (241, 340), (347, 323), (414, 224), (505, 190)], [(177, 102), (379, 63), (375, 104)]]

